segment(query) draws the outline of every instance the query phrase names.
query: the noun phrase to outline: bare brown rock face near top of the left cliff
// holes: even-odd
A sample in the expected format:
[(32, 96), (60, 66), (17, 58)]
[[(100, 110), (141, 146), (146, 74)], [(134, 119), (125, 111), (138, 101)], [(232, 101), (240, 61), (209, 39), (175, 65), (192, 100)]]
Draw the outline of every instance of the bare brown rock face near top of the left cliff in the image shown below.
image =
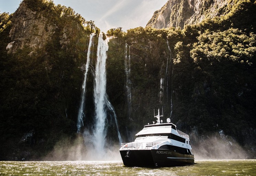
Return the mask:
[(9, 33), (11, 42), (8, 52), (15, 52), (29, 46), (32, 49), (41, 48), (54, 33), (55, 26), (47, 25), (47, 18), (41, 13), (33, 12), (25, 3), (13, 14), (12, 27)]

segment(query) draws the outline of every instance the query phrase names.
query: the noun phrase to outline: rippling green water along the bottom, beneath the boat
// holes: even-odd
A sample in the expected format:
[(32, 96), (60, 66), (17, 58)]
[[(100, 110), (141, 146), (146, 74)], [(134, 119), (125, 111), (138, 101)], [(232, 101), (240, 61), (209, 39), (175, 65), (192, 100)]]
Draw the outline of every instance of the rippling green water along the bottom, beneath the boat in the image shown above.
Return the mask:
[(125, 167), (122, 161), (0, 161), (0, 175), (256, 175), (256, 160), (196, 160), (180, 167)]

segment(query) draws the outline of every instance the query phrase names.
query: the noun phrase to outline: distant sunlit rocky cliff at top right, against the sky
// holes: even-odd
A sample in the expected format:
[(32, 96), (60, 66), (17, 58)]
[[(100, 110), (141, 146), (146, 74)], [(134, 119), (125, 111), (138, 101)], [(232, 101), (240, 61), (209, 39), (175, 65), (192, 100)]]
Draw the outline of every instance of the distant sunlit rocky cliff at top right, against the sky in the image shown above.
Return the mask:
[[(229, 0), (168, 0), (154, 13), (147, 26), (157, 29), (198, 24), (205, 18), (222, 16), (231, 10)], [(229, 7), (229, 8), (227, 8)]]

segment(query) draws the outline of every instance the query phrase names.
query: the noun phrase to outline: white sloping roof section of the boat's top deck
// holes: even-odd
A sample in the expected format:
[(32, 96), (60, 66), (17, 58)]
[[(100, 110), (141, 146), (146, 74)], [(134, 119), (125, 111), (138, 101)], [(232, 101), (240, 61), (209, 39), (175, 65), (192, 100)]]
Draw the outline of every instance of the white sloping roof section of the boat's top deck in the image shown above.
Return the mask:
[(138, 132), (135, 136), (146, 134), (166, 134), (171, 133), (171, 128), (176, 130), (176, 125), (173, 123), (157, 123), (151, 125), (145, 125), (144, 128)]

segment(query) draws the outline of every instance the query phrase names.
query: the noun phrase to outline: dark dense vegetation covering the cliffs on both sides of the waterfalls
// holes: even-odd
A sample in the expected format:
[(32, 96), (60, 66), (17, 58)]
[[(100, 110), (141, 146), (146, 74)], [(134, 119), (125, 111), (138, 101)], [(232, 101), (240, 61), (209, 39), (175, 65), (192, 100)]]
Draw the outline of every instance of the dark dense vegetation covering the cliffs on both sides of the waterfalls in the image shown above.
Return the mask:
[[(12, 42), (9, 32), (19, 16), (0, 15), (2, 160), (41, 159), (58, 141), (74, 142), (88, 36), (99, 33), (93, 21), (71, 8), (44, 0), (22, 3), (47, 18), (45, 31), (54, 26), (54, 32), (41, 48), (26, 45), (10, 52), (6, 49)], [(206, 138), (222, 130), (255, 150), (256, 3), (237, 0), (226, 8), (231, 8), (227, 15), (182, 30), (138, 27), (107, 32), (114, 36), (109, 42), (107, 94), (123, 138), (130, 140), (143, 125), (155, 121), (153, 109), (163, 107), (166, 118), (171, 117), (182, 131), (196, 133), (194, 137)], [(67, 36), (65, 42), (63, 36)], [(125, 89), (126, 43), (131, 56), (131, 113)], [(97, 37), (87, 83), (88, 123), (93, 123), (94, 116), (96, 50)], [(115, 129), (109, 127), (109, 136), (112, 134)]]

